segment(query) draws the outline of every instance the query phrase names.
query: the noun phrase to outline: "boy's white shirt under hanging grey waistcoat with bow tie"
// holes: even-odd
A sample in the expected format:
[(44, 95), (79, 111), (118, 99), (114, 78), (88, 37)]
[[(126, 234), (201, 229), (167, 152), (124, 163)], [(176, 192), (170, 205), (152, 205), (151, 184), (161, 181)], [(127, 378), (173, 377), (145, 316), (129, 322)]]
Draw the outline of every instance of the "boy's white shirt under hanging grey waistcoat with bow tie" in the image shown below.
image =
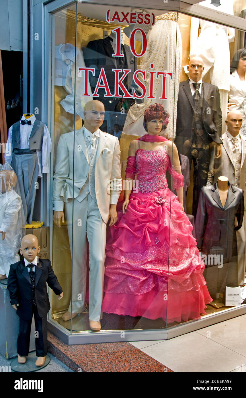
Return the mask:
[[(22, 120), (30, 120), (31, 125), (25, 124), (22, 125), (21, 121)], [(32, 115), (28, 119), (25, 118), (23, 115), (21, 120), (20, 120), (20, 145), (18, 149), (26, 149), (29, 148), (29, 138), (31, 134), (31, 130), (33, 128), (33, 123), (35, 122), (36, 117), (35, 115)], [(37, 158), (38, 158), (38, 176), (42, 177), (41, 173), (41, 164), (42, 164), (42, 172), (43, 173), (49, 173), (49, 154), (52, 149), (52, 144), (51, 144), (51, 139), (49, 135), (49, 130), (46, 125), (44, 125), (43, 129), (43, 145), (42, 145), (42, 153), (41, 150), (37, 150)], [(5, 162), (8, 162), (9, 164), (12, 161), (12, 154), (13, 154), (13, 148), (12, 148), (12, 126), (8, 130), (8, 140), (7, 140), (7, 145), (6, 145), (6, 151), (4, 154), (4, 160)]]

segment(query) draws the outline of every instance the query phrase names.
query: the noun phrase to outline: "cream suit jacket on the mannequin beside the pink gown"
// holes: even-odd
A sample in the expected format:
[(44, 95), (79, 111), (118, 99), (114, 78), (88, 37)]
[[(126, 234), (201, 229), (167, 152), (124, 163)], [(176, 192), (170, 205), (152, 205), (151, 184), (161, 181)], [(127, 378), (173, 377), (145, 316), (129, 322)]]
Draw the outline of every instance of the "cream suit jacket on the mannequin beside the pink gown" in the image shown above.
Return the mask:
[[(117, 204), (122, 191), (120, 145), (117, 137), (99, 131), (94, 165), (95, 191), (100, 215), (104, 222), (107, 222), (110, 204)], [(88, 173), (89, 156), (83, 127), (75, 131), (75, 140), (73, 131), (62, 134), (57, 145), (53, 176), (53, 210), (63, 211), (64, 202), (67, 203), (68, 199), (75, 199), (79, 195), (87, 181)]]

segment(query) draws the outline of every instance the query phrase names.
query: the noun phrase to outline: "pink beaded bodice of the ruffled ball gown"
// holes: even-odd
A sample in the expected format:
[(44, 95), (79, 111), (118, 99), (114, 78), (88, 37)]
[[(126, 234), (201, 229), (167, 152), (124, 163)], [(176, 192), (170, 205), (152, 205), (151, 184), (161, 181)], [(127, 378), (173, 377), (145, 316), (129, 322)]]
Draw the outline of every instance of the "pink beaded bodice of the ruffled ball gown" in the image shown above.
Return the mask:
[(156, 192), (167, 188), (166, 172), (169, 163), (167, 150), (138, 149), (136, 171), (139, 192)]

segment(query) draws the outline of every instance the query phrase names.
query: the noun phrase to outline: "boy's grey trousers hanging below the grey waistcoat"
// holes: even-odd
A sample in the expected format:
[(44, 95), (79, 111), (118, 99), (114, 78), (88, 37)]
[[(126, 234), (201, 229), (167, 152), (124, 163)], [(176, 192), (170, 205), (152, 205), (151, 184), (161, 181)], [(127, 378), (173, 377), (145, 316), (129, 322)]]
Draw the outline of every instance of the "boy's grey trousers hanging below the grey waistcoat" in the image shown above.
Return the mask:
[(26, 222), (31, 224), (37, 190), (35, 185), (38, 176), (37, 152), (30, 154), (13, 153), (11, 166), (18, 178)]

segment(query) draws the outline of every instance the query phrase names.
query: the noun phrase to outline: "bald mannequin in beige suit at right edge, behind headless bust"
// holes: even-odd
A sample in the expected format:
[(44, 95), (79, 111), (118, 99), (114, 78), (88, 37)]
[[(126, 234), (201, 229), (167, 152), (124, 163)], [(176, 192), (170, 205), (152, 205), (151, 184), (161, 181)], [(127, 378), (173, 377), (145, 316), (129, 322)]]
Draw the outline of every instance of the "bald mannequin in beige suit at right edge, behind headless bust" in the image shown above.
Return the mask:
[[(238, 246), (238, 285), (244, 283), (245, 272), (245, 234), (246, 234), (246, 137), (240, 134), (242, 113), (231, 111), (226, 118), (226, 133), (222, 134), (222, 155), (215, 158), (211, 154), (208, 184), (213, 184), (218, 177), (226, 176), (231, 184), (244, 191), (244, 219), (242, 228), (236, 232)], [(238, 140), (234, 143), (233, 139)]]

